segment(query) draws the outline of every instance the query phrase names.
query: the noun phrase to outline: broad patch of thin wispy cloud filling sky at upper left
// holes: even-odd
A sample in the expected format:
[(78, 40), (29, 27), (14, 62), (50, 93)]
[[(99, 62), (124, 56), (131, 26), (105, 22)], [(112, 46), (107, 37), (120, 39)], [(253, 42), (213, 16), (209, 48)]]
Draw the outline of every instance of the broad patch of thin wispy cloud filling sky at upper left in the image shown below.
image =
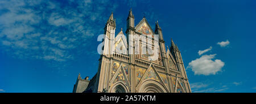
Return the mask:
[(1, 49), (22, 59), (73, 59), (118, 6), (106, 2), (0, 1)]

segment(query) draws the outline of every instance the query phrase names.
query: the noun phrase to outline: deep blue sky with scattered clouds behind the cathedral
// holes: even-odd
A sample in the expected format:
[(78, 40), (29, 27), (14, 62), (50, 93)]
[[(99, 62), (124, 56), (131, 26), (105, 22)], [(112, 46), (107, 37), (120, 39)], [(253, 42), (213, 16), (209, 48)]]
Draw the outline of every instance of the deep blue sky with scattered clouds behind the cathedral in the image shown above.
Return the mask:
[(119, 32), (130, 8), (177, 44), (192, 92), (256, 92), (256, 2), (233, 0), (0, 1), (0, 92), (72, 92), (97, 72), (111, 12)]

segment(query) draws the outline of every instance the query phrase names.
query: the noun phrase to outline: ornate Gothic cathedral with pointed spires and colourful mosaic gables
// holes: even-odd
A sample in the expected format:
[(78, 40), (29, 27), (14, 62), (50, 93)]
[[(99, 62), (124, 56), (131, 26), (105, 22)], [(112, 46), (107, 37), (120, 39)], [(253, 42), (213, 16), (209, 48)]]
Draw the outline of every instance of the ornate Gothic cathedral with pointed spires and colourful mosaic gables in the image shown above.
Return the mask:
[(98, 71), (91, 80), (79, 74), (74, 93), (191, 92), (180, 50), (172, 40), (166, 48), (158, 21), (154, 31), (146, 18), (134, 25), (130, 10), (126, 36), (122, 29), (115, 36), (115, 28), (112, 13), (104, 28)]

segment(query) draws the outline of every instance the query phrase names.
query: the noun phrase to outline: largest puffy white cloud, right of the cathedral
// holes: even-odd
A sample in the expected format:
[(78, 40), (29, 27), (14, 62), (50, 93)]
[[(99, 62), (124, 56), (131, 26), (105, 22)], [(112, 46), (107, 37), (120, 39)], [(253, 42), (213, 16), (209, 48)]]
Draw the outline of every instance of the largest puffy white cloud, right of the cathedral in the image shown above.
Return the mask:
[(195, 75), (215, 75), (224, 66), (224, 62), (220, 59), (212, 60), (215, 55), (203, 55), (199, 59), (192, 60), (188, 68), (191, 68)]

